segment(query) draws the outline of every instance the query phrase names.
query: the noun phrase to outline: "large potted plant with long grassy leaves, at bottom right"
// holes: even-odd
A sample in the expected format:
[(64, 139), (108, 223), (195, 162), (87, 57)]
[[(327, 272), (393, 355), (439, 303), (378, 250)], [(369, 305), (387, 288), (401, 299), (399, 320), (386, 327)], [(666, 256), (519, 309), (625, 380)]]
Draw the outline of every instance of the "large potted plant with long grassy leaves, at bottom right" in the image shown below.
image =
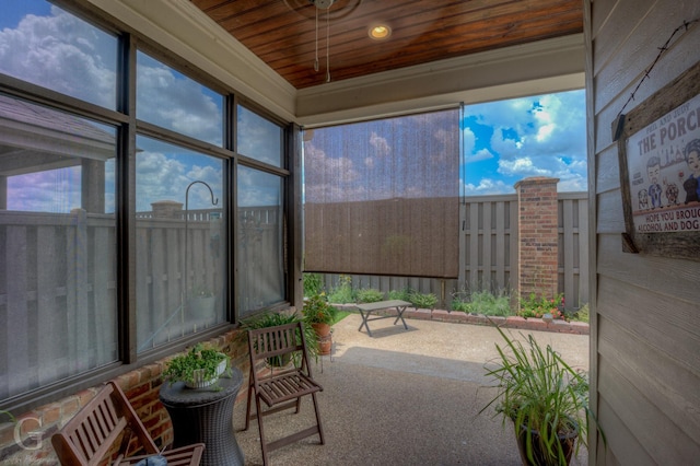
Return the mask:
[(495, 345), (499, 357), (486, 369), (498, 393), (481, 412), (494, 405), (504, 423), (513, 422), (523, 464), (569, 464), (580, 445), (586, 445), (588, 420), (595, 421), (588, 409), (586, 375), (532, 335), (523, 343), (497, 329), (505, 345)]

